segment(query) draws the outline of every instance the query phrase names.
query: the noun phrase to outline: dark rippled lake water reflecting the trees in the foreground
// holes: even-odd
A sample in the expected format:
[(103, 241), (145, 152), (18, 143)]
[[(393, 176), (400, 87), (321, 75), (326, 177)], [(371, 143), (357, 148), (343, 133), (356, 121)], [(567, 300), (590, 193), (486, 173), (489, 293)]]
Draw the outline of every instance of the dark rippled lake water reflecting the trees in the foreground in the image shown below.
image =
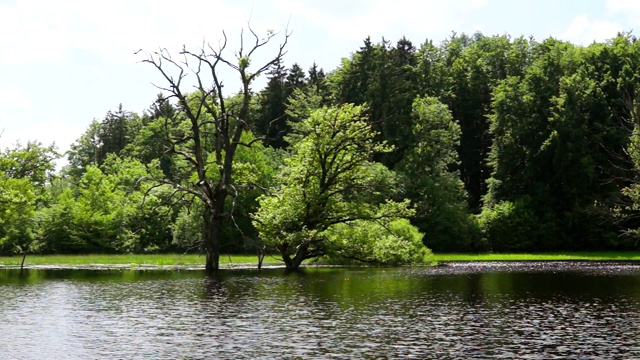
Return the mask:
[(2, 359), (640, 359), (640, 265), (0, 269)]

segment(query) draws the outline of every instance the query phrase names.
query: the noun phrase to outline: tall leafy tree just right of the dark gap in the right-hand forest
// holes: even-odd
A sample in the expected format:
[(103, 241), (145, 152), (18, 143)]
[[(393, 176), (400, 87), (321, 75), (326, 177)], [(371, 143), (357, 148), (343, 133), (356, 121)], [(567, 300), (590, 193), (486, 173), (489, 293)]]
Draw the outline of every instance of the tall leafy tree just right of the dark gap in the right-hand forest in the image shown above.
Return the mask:
[[(558, 244), (570, 248), (570, 233), (561, 231), (562, 217), (565, 211), (573, 213), (576, 209), (570, 203), (561, 205), (564, 209), (558, 208), (560, 203), (554, 197), (558, 184), (550, 181), (557, 171), (552, 168), (551, 144), (558, 143), (552, 139), (558, 134), (554, 127), (560, 122), (551, 119), (561, 92), (561, 79), (569, 70), (566, 65), (576, 64), (566, 60), (575, 58), (576, 50), (571, 44), (548, 39), (533, 52), (536, 59), (523, 76), (506, 78), (493, 96), (493, 114), (489, 117), (494, 137), (489, 155), (492, 174), (481, 215), (481, 219), (491, 220), (481, 220), (481, 224), (485, 224), (483, 232), (488, 234), (487, 240), (495, 249), (512, 249), (513, 245), (504, 244), (512, 244), (508, 233), (516, 232), (515, 229), (493, 231), (491, 226), (505, 228), (516, 224), (525, 228), (523, 221), (531, 221), (533, 223), (526, 226), (535, 225), (544, 231), (522, 233), (525, 237), (518, 241), (530, 247), (521, 246), (520, 251), (559, 249)], [(496, 206), (499, 211), (494, 209)], [(499, 234), (507, 237), (495, 237)]]

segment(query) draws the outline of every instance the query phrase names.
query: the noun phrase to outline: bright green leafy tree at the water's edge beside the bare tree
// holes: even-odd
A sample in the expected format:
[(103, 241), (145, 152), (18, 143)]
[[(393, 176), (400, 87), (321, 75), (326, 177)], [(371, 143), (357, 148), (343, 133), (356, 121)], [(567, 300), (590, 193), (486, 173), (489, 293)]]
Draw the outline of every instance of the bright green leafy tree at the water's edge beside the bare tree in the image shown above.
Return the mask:
[(426, 261), (429, 250), (418, 231), (401, 221), (413, 214), (409, 202), (389, 200), (385, 192), (395, 186), (395, 177), (371, 161), (374, 153), (390, 148), (374, 141), (363, 108), (323, 107), (292, 126), (292, 154), (277, 178), (279, 185), (259, 198), (254, 216), (260, 237), (280, 252), (286, 267), (297, 269), (320, 256)]

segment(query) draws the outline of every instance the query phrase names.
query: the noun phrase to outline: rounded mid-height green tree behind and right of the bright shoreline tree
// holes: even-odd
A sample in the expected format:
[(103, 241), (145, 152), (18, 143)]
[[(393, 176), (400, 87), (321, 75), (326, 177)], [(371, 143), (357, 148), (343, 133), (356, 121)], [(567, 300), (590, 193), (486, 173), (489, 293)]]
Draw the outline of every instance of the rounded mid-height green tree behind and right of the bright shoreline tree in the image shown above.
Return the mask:
[(424, 233), (424, 243), (437, 251), (478, 250), (479, 234), (467, 213), (467, 199), (456, 148), (460, 126), (446, 105), (433, 97), (413, 102), (413, 143), (407, 145), (397, 171), (405, 193), (414, 199), (412, 221)]

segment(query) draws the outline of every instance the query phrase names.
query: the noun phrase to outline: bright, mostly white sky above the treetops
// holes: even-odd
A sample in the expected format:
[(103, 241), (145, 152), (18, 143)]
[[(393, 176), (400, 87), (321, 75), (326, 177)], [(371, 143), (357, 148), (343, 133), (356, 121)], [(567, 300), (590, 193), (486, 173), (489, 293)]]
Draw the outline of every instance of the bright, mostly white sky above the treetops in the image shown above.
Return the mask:
[(223, 30), (233, 49), (248, 24), (279, 32), (275, 45), (288, 29), (286, 66), (329, 72), (367, 36), (419, 46), (479, 31), (589, 45), (637, 35), (638, 19), (637, 0), (0, 0), (0, 148), (35, 140), (64, 152), (119, 104), (142, 113), (164, 85), (145, 54), (216, 46)]

